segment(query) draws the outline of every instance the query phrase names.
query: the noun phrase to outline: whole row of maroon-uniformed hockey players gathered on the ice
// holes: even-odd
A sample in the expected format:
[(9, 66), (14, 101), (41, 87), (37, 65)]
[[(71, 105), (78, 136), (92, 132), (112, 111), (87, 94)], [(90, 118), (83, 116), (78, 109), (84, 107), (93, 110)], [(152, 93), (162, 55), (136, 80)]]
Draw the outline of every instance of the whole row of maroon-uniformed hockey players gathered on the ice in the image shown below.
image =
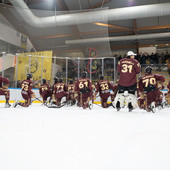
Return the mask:
[[(53, 85), (48, 85), (46, 79), (42, 80), (39, 85), (39, 93), (43, 101), (37, 98), (32, 91), (34, 83), (32, 74), (27, 74), (27, 79), (21, 82), (21, 95), (24, 102), (15, 101), (14, 107), (28, 107), (32, 100), (39, 100), (47, 107), (60, 108), (64, 105), (77, 105), (83, 109), (92, 109), (96, 97), (100, 96), (101, 107), (113, 108), (119, 111), (127, 106), (131, 112), (139, 107), (147, 112), (155, 112), (156, 107), (163, 108), (164, 105), (170, 105), (170, 81), (167, 85), (168, 92), (163, 94), (161, 91), (164, 88), (165, 78), (159, 74), (152, 74), (152, 67), (147, 66), (145, 75), (137, 80), (137, 74), (141, 71), (140, 63), (135, 60), (135, 55), (129, 51), (125, 58), (121, 59), (117, 64), (117, 72), (119, 80), (116, 85), (104, 80), (101, 75), (99, 81), (92, 84), (92, 81), (87, 78), (87, 72), (83, 71), (82, 77), (75, 82), (69, 80), (66, 85), (62, 78), (54, 78)], [(0, 95), (4, 95), (6, 99), (5, 107), (10, 107), (10, 90), (8, 89), (9, 80), (0, 76)], [(65, 97), (66, 100), (62, 101)], [(111, 103), (108, 103), (108, 98), (111, 97)], [(165, 97), (165, 102), (163, 102)], [(49, 99), (49, 100), (48, 100)]]

